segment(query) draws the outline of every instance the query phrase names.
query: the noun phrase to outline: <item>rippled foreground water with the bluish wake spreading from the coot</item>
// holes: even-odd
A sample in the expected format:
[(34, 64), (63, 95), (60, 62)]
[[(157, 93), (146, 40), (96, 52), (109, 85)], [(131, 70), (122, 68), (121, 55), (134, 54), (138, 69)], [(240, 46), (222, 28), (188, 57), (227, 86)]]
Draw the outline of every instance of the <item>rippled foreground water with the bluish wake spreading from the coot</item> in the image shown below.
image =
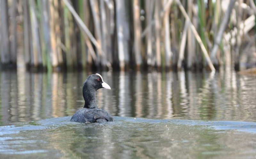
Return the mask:
[(115, 122), (81, 124), (69, 120), (60, 117), (0, 127), (0, 156), (119, 159), (256, 155), (254, 122), (115, 117)]

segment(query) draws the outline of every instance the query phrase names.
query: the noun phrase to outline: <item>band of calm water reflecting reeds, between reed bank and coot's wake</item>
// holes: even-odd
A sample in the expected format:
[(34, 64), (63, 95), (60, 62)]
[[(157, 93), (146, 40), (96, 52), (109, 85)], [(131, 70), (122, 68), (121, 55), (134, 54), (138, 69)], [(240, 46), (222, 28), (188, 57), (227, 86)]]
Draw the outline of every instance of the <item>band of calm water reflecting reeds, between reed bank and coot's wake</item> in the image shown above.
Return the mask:
[[(1, 72), (1, 125), (73, 115), (91, 73)], [(102, 72), (99, 107), (117, 116), (256, 121), (256, 76), (235, 72)]]

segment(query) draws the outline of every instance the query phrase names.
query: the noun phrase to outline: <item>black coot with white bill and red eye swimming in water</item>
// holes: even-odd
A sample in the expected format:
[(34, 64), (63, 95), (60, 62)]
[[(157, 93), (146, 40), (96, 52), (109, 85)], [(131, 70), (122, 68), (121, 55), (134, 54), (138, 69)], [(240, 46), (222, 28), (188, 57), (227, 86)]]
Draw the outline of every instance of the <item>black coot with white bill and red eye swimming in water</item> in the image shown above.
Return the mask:
[(70, 119), (71, 122), (90, 122), (102, 123), (113, 121), (113, 116), (107, 111), (97, 107), (96, 91), (100, 88), (111, 89), (110, 86), (103, 81), (100, 74), (90, 75), (83, 86), (84, 107), (79, 109)]

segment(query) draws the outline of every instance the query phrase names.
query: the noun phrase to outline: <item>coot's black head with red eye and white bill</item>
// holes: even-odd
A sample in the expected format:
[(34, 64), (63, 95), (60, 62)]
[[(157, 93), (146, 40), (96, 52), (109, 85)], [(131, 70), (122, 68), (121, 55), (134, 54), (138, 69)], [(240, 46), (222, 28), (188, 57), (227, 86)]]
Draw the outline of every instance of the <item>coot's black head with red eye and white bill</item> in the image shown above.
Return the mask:
[(100, 88), (106, 88), (111, 90), (110, 86), (103, 81), (103, 78), (100, 74), (92, 74), (90, 75), (86, 81), (87, 86), (92, 86), (96, 91)]

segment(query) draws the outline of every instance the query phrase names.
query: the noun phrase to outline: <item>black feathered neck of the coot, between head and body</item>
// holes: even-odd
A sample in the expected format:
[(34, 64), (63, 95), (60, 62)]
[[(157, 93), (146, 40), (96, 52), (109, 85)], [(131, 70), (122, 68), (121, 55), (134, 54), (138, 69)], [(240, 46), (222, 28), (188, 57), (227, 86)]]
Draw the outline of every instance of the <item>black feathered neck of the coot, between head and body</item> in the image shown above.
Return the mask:
[(83, 87), (83, 97), (84, 97), (84, 108), (98, 108), (96, 101), (96, 90), (91, 86), (88, 86), (86, 82)]

